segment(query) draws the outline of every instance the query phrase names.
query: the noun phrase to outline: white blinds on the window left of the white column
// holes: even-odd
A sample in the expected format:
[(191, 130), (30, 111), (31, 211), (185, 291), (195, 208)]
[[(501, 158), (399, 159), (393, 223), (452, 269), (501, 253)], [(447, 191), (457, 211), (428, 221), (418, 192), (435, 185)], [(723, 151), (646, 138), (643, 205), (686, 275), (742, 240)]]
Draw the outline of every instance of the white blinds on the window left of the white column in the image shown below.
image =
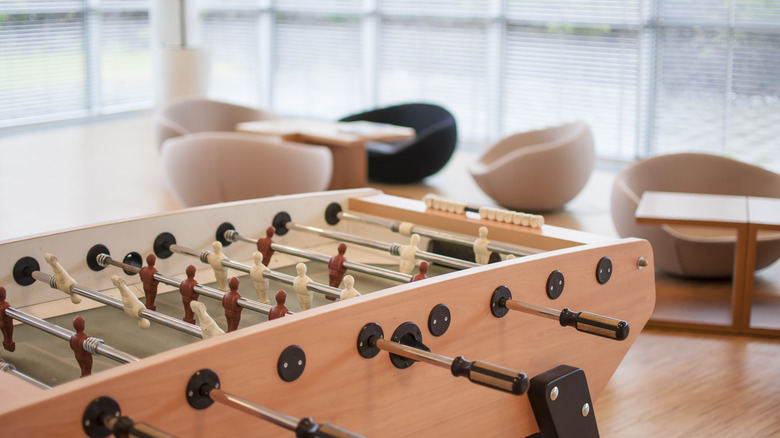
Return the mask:
[(149, 107), (148, 2), (0, 0), (0, 127)]

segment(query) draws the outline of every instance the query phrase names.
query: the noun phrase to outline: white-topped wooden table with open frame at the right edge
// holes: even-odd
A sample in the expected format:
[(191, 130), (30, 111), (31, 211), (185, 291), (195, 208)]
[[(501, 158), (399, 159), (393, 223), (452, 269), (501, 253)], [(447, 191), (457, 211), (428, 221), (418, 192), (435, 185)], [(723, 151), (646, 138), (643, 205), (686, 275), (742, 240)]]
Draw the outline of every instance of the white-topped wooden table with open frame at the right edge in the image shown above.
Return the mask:
[(758, 231), (780, 230), (780, 199), (647, 191), (637, 223), (732, 228), (737, 232), (731, 294), (731, 324), (651, 319), (651, 326), (780, 336), (780, 329), (751, 326)]

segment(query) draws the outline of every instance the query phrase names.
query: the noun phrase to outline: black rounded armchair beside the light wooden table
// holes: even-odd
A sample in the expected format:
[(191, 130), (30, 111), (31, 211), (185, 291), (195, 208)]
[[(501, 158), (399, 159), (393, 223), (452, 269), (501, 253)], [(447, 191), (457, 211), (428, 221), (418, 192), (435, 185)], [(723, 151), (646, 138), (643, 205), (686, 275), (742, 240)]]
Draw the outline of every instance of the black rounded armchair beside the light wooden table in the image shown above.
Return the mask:
[(344, 117), (340, 121), (365, 120), (414, 128), (411, 140), (369, 142), (368, 177), (372, 181), (408, 184), (441, 170), (455, 152), (458, 130), (446, 109), (427, 103), (409, 103)]

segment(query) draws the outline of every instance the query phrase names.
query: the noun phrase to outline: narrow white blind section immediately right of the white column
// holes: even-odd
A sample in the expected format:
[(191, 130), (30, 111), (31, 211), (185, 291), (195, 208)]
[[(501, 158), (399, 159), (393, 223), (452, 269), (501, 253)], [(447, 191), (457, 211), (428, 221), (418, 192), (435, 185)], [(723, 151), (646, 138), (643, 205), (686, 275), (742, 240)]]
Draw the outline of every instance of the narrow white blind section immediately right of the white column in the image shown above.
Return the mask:
[(261, 96), (261, 29), (258, 9), (214, 2), (201, 11), (203, 46), (209, 56), (209, 96), (257, 107)]

